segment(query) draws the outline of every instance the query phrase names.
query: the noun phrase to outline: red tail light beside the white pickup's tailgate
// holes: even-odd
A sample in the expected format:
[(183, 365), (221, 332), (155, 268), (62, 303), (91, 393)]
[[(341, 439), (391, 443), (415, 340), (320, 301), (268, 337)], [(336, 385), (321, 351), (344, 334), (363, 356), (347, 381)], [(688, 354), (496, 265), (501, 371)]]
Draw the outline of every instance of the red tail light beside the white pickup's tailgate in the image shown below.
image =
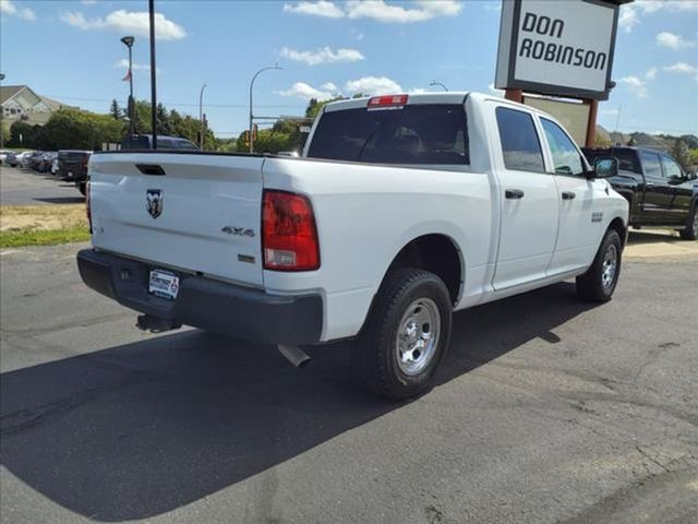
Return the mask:
[(310, 200), (296, 193), (265, 190), (262, 204), (264, 269), (275, 271), (318, 269), (317, 229)]

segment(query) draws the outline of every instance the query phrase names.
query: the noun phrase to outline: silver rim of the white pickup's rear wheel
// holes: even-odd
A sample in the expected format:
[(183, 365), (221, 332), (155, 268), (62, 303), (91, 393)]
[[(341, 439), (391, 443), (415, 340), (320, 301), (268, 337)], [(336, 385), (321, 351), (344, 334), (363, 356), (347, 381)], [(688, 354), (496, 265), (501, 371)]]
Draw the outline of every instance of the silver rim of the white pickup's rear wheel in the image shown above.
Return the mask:
[(422, 372), (431, 362), (441, 336), (441, 313), (431, 298), (418, 298), (405, 310), (395, 341), (397, 365), (407, 376)]

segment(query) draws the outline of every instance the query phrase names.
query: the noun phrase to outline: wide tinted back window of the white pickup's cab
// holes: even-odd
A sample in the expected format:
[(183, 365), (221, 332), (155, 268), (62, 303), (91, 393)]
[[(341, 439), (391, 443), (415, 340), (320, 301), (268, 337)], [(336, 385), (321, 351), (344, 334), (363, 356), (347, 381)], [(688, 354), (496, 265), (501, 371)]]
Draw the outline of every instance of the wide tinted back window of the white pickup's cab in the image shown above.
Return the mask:
[(324, 114), (310, 158), (376, 164), (469, 164), (461, 105), (413, 105)]

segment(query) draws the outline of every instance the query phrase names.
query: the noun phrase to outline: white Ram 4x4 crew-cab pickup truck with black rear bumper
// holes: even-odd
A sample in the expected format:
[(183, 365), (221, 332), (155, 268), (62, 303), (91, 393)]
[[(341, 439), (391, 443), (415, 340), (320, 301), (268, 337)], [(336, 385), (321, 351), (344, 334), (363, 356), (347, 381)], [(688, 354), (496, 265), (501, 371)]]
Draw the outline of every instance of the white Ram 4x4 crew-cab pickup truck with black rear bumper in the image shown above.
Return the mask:
[(454, 311), (577, 277), (613, 294), (628, 204), (563, 127), (477, 93), (336, 102), (302, 157), (124, 151), (89, 160), (85, 284), (143, 313), (276, 344), (353, 340), (365, 384), (426, 391)]

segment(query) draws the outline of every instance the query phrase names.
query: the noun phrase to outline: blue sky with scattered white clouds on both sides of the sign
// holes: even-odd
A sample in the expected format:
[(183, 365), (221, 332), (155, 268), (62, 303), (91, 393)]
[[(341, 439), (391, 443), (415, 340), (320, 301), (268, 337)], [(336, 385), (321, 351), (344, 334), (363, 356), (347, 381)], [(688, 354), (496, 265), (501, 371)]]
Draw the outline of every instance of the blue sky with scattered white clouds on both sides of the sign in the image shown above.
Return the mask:
[[(564, 1), (564, 0), (547, 0)], [(158, 99), (204, 111), (221, 138), (255, 114), (300, 115), (308, 97), (411, 92), (434, 79), (449, 90), (488, 92), (494, 81), (500, 1), (185, 1), (157, 0)], [(125, 103), (119, 41), (134, 34), (135, 95), (149, 98), (147, 1), (0, 0), (3, 84), (106, 112)], [(698, 134), (698, 0), (622, 8), (613, 79), (599, 121), (622, 131)]]

